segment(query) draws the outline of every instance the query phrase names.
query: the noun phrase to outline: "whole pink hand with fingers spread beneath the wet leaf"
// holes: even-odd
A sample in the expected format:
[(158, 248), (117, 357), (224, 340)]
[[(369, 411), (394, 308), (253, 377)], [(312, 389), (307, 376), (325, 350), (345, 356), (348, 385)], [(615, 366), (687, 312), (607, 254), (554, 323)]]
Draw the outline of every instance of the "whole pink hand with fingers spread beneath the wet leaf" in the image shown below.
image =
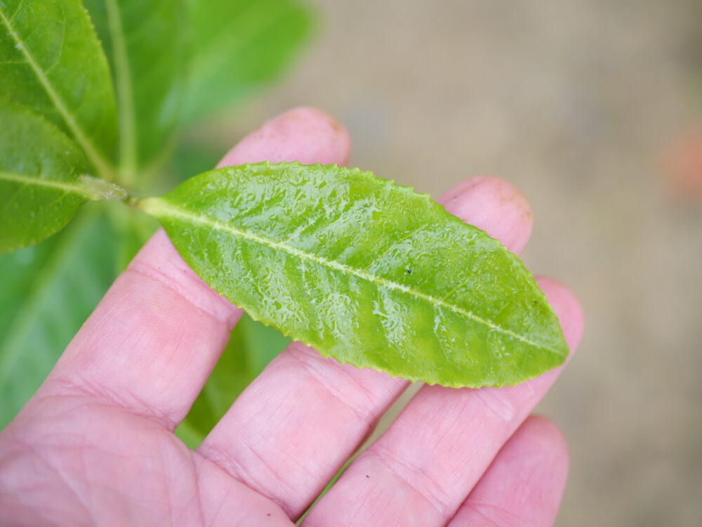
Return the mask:
[[(220, 165), (349, 154), (338, 122), (297, 108)], [(472, 178), (441, 201), (513, 251), (526, 245), (531, 210), (510, 183)], [(578, 301), (554, 280), (539, 284), (574, 350)], [(159, 230), (0, 434), (0, 524), (291, 526), (406, 382), (291, 344), (189, 450), (173, 430), (240, 315)], [(529, 412), (561, 369), (505, 389), (423, 387), (303, 525), (551, 525), (567, 449)]]

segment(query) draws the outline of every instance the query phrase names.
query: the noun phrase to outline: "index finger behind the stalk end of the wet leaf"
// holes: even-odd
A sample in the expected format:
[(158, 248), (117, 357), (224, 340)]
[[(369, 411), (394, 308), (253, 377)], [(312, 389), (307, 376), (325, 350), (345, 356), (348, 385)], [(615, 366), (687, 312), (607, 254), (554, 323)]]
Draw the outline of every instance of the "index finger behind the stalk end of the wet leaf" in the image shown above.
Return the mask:
[[(223, 163), (344, 162), (347, 134), (298, 108), (244, 138)], [(202, 282), (159, 230), (110, 287), (39, 396), (95, 396), (176, 427), (197, 397), (241, 311)]]

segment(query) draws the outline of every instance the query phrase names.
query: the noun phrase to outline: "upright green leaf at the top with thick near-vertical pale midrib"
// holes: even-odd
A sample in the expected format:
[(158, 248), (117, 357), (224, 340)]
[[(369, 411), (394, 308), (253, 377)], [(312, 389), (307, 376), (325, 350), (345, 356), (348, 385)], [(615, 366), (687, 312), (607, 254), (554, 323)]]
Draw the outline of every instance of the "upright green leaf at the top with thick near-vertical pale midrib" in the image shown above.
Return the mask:
[(180, 0), (85, 0), (110, 59), (119, 113), (119, 171), (139, 167), (171, 143), (184, 87), (187, 30)]

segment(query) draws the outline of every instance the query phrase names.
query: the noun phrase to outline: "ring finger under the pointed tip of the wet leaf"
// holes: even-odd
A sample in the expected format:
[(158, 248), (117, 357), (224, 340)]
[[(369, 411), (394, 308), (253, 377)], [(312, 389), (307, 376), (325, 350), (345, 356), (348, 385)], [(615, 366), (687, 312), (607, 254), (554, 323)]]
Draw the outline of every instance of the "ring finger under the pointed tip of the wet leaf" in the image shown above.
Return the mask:
[[(576, 349), (580, 305), (555, 280), (538, 280)], [(309, 526), (444, 525), (562, 367), (502, 389), (424, 386), (376, 443), (307, 516)]]

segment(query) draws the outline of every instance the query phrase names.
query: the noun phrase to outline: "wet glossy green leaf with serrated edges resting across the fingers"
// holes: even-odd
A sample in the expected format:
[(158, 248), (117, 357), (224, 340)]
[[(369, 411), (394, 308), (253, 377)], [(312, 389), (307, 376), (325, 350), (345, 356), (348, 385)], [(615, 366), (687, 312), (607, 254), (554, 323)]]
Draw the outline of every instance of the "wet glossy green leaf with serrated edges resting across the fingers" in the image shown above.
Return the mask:
[(220, 294), (341, 363), (503, 386), (568, 354), (516, 256), (427, 195), (369, 172), (227, 167), (140, 206)]

